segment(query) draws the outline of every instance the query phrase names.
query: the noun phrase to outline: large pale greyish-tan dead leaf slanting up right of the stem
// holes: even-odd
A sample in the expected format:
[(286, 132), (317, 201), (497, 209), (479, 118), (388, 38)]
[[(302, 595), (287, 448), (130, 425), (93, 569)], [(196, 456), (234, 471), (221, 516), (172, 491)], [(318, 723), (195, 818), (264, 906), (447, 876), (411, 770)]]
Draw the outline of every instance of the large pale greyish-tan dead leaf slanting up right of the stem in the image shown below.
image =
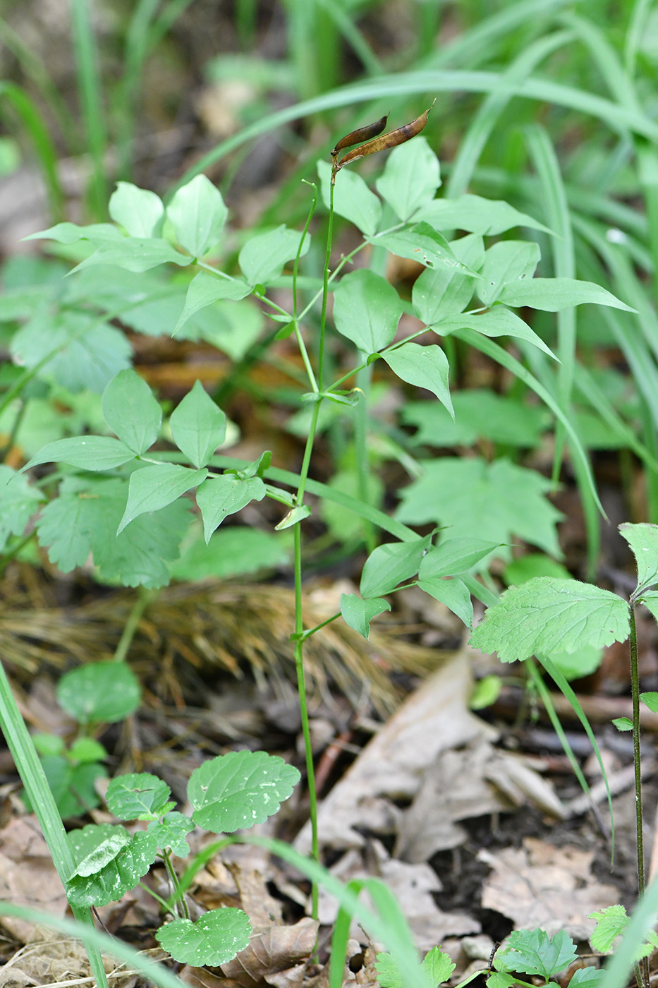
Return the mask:
[[(391, 818), (391, 811), (377, 803), (379, 797), (413, 797), (424, 770), (440, 752), (476, 737), (495, 736), (493, 728), (468, 709), (470, 691), (468, 663), (456, 654), (404, 701), (320, 804), (323, 846), (363, 847), (359, 830), (381, 832), (377, 823)], [(302, 854), (308, 852), (308, 825), (294, 846)]]

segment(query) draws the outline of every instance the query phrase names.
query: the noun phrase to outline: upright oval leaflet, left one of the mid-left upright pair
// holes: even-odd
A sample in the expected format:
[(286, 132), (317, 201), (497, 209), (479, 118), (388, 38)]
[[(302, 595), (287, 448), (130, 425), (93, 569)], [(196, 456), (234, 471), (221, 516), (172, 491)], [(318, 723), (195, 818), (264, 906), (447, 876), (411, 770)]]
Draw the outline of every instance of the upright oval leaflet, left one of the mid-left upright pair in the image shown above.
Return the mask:
[(121, 371), (106, 387), (103, 415), (112, 431), (135, 453), (146, 453), (158, 438), (162, 409), (146, 381), (132, 370)]

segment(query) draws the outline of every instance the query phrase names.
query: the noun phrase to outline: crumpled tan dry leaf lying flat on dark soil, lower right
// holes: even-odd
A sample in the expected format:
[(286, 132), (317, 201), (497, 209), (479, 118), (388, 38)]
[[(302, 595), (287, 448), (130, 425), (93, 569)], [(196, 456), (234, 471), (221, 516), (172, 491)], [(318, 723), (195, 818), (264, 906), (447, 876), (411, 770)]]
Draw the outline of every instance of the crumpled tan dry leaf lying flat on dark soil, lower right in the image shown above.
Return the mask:
[(482, 850), (477, 857), (492, 868), (482, 906), (513, 920), (516, 929), (539, 927), (549, 937), (565, 930), (574, 940), (587, 940), (594, 929), (588, 914), (619, 901), (616, 886), (591, 873), (592, 851), (555, 848), (529, 837), (519, 850)]

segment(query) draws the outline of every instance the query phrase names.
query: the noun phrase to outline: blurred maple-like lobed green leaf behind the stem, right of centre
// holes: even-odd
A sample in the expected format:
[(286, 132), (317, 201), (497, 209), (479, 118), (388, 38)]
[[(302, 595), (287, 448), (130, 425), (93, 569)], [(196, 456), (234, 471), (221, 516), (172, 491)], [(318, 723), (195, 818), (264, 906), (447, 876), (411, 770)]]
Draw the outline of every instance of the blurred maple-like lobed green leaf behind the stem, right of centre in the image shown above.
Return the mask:
[[(400, 491), (400, 522), (435, 523), (451, 527), (452, 536), (501, 545), (521, 537), (560, 556), (555, 526), (562, 515), (544, 496), (552, 485), (540, 473), (504, 458), (487, 463), (479, 457), (446, 456), (420, 465), (420, 478)], [(510, 551), (501, 548), (497, 555), (509, 559)]]

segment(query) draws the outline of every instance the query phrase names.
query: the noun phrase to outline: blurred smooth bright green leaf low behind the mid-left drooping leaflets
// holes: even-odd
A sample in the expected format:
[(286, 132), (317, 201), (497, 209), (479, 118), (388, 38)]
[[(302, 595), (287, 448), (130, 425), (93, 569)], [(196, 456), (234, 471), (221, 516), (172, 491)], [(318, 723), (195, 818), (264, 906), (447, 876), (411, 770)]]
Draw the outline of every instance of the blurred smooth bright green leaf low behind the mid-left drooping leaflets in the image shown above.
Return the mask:
[(215, 532), (207, 544), (202, 535), (184, 545), (171, 572), (175, 580), (207, 580), (208, 576), (225, 578), (277, 569), (288, 562), (286, 536), (234, 525)]

